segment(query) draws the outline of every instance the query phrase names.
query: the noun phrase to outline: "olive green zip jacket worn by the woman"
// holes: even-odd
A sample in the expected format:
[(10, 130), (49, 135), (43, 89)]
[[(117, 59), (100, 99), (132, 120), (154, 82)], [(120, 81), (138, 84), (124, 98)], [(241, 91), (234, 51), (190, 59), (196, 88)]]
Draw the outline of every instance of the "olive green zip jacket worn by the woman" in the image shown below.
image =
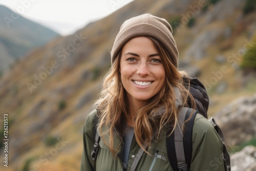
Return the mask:
[[(124, 170), (120, 156), (115, 159), (108, 146), (100, 140), (100, 150), (96, 161), (92, 160), (91, 151), (94, 144), (93, 120), (96, 110), (92, 111), (84, 124), (83, 153), (80, 171), (119, 171)], [(173, 170), (169, 163), (166, 149), (166, 131), (162, 131), (159, 139), (153, 138), (152, 146), (148, 152), (141, 153), (140, 146), (135, 137), (132, 140), (127, 170), (137, 165), (135, 170)], [(224, 171), (222, 159), (222, 141), (209, 121), (201, 115), (197, 115), (193, 127), (193, 154), (190, 171), (218, 170)], [(121, 140), (116, 135), (116, 143)], [(121, 151), (121, 146), (119, 150)], [(141, 157), (139, 157), (141, 154)]]

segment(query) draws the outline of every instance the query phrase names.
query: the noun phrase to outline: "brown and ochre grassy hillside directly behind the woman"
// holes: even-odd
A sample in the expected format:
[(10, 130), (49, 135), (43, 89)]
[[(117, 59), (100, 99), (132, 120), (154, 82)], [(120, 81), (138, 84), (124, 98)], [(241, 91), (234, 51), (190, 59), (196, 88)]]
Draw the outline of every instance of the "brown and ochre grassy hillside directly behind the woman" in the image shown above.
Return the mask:
[[(139, 14), (172, 23), (179, 66), (205, 84), (209, 116), (231, 99), (254, 94), (256, 79), (239, 68), (239, 50), (256, 41), (255, 10), (243, 14), (246, 0), (199, 2), (137, 0), (20, 59), (0, 79), (0, 111), (9, 116), (7, 170), (79, 169), (82, 126), (110, 67), (109, 51), (124, 20)], [(194, 25), (187, 27), (191, 18)]]

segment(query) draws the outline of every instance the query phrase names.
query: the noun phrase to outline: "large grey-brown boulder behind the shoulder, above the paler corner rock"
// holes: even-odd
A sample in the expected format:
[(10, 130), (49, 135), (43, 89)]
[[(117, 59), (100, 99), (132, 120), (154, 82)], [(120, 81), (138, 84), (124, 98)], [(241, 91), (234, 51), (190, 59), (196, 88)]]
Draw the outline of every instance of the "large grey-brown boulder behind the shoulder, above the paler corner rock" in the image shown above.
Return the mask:
[(227, 146), (249, 141), (256, 135), (256, 94), (227, 104), (215, 115)]

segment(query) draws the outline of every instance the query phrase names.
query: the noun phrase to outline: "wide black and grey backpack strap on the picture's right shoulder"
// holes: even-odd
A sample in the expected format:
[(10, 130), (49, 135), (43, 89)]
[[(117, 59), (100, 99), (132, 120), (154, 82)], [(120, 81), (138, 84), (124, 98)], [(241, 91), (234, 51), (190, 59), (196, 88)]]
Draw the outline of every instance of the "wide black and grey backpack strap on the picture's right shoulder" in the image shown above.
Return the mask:
[[(193, 112), (193, 109), (191, 108), (185, 108), (184, 110), (182, 109), (179, 115), (180, 126), (177, 125), (174, 133), (166, 137), (168, 159), (169, 159), (170, 165), (175, 171), (189, 170), (190, 168), (190, 163), (192, 158), (192, 131), (193, 131), (194, 120), (198, 112), (194, 110), (191, 118), (187, 122), (185, 122), (184, 131), (183, 131), (184, 134), (182, 134), (180, 128), (182, 127), (184, 121), (190, 117), (192, 112)], [(176, 131), (176, 129), (180, 130), (180, 132)], [(170, 131), (167, 132), (167, 135), (169, 134), (170, 134)], [(179, 138), (175, 138), (176, 136), (178, 136)], [(175, 139), (176, 139), (176, 142), (175, 142)], [(182, 141), (182, 142), (179, 142), (179, 141)], [(181, 148), (183, 148), (183, 151)]]

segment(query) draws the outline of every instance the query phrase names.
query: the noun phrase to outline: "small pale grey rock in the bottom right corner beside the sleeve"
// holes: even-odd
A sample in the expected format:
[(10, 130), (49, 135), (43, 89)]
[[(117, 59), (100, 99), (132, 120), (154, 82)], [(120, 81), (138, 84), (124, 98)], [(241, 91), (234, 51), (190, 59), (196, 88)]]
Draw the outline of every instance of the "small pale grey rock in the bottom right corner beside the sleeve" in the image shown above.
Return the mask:
[(246, 146), (242, 151), (230, 156), (232, 171), (255, 171), (256, 170), (256, 148)]

